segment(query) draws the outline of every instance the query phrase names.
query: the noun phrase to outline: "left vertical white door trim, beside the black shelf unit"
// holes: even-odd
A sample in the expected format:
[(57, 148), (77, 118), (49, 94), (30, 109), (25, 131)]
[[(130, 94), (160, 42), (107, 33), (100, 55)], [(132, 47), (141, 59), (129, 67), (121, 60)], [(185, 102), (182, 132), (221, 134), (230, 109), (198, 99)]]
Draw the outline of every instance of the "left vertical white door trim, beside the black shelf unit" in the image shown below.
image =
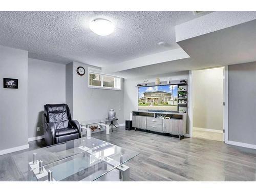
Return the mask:
[(188, 118), (189, 118), (189, 137), (193, 137), (193, 71), (189, 70), (188, 84)]

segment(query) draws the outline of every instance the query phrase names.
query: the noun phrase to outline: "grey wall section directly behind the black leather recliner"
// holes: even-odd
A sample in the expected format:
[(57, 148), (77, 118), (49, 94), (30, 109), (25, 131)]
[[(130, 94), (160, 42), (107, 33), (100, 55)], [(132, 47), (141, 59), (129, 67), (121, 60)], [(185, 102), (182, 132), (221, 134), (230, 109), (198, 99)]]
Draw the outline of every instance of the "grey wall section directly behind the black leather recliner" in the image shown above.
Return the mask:
[[(66, 103), (65, 65), (28, 59), (28, 137), (44, 135), (42, 113), (47, 103)], [(36, 131), (36, 127), (40, 131)]]

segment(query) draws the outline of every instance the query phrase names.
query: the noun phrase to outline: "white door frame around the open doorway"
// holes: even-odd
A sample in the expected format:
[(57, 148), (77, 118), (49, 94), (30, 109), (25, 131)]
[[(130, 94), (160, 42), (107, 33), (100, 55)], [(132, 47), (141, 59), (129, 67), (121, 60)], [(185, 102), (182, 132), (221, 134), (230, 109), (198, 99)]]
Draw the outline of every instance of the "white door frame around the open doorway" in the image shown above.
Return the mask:
[[(228, 66), (223, 67), (223, 131), (225, 143), (228, 143)], [(220, 68), (215, 67), (215, 68)], [(213, 68), (205, 68), (213, 69)], [(204, 70), (204, 69), (200, 69)], [(189, 137), (193, 137), (193, 113), (194, 113), (194, 98), (193, 98), (193, 72), (196, 70), (189, 70), (189, 85), (188, 85), (188, 115), (189, 115)]]

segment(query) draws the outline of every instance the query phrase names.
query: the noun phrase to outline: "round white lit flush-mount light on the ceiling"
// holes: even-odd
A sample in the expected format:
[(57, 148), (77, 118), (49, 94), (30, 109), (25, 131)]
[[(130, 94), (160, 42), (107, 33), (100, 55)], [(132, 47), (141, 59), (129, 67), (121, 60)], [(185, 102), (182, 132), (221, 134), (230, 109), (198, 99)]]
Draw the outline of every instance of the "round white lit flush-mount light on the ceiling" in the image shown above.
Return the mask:
[(99, 18), (92, 20), (90, 29), (97, 35), (106, 36), (113, 33), (115, 26), (109, 20)]

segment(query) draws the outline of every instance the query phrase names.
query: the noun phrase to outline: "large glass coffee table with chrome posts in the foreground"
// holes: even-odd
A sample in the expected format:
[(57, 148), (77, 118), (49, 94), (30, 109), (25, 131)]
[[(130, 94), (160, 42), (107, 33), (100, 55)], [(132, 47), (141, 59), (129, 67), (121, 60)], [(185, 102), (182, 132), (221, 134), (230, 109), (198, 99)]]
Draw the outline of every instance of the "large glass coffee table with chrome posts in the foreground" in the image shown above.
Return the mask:
[[(129, 181), (130, 167), (124, 163), (137, 155), (93, 137), (82, 137), (13, 155), (12, 159), (23, 181)], [(119, 172), (118, 177), (108, 179), (113, 170)]]

